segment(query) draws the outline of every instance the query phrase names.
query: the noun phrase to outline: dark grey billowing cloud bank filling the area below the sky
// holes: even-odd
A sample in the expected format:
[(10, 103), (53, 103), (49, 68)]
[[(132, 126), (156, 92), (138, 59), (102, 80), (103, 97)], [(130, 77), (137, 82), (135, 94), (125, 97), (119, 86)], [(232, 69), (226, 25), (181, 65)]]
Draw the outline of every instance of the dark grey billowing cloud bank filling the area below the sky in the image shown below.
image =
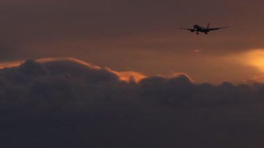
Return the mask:
[(147, 77), (71, 60), (0, 70), (3, 147), (263, 147), (264, 85)]

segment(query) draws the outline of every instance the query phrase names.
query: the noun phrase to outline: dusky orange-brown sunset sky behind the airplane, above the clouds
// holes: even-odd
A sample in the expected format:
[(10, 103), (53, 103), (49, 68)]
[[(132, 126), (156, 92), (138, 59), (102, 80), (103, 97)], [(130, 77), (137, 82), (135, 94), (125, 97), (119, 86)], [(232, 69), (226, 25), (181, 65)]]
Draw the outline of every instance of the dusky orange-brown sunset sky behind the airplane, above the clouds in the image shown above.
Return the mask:
[[(197, 83), (261, 76), (263, 1), (1, 0), (0, 61), (70, 57)], [(179, 29), (229, 25), (209, 35)], [(264, 52), (264, 51), (263, 51)], [(255, 54), (256, 53), (256, 54)], [(242, 58), (238, 58), (242, 57)]]

